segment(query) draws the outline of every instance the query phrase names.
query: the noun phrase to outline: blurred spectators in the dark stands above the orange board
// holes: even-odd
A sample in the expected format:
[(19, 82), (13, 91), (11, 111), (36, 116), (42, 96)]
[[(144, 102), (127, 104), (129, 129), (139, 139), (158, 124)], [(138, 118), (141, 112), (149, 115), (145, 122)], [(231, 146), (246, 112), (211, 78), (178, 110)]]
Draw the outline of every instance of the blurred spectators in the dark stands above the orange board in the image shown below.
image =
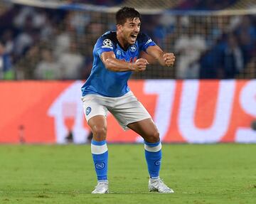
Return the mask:
[[(176, 9), (209, 9), (213, 1), (182, 2)], [(115, 20), (114, 14), (16, 5), (0, 14), (0, 28), (0, 79), (76, 80), (90, 74), (93, 45), (115, 30)], [(256, 77), (255, 16), (144, 15), (142, 31), (177, 60), (173, 72), (151, 66), (139, 77), (230, 79), (245, 70), (252, 74), (242, 77)]]

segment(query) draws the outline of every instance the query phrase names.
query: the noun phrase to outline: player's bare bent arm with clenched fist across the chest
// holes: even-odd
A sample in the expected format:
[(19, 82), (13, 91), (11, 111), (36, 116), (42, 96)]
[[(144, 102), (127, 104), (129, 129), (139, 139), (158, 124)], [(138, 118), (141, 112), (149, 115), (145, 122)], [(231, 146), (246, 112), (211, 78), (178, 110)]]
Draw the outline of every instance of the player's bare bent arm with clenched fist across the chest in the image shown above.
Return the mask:
[(113, 51), (103, 52), (100, 58), (105, 67), (113, 72), (142, 72), (146, 70), (146, 65), (149, 64), (144, 58), (139, 58), (135, 63), (127, 63), (124, 60), (118, 60)]

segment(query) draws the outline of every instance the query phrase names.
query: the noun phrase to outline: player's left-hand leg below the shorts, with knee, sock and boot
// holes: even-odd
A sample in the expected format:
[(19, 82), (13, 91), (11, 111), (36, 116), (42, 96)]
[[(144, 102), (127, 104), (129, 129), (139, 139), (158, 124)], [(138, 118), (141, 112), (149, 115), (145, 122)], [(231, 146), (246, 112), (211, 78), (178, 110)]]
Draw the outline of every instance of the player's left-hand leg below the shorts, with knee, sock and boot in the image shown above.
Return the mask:
[(107, 181), (107, 119), (103, 115), (92, 117), (88, 121), (88, 125), (92, 129), (91, 151), (92, 159), (95, 164), (97, 173), (97, 186), (92, 193), (108, 193)]

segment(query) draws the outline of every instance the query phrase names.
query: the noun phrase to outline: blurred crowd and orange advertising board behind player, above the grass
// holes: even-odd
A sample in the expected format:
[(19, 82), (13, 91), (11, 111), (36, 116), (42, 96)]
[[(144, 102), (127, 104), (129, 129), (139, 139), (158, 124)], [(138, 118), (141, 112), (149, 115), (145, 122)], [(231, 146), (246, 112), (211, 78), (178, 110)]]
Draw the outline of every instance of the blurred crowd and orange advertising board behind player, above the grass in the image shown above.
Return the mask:
[[(129, 82), (161, 140), (255, 143), (255, 0), (1, 0), (0, 143), (91, 138), (80, 87), (122, 6), (136, 8), (142, 32), (176, 55), (174, 68), (149, 65)], [(141, 141), (111, 114), (108, 125), (110, 142)]]

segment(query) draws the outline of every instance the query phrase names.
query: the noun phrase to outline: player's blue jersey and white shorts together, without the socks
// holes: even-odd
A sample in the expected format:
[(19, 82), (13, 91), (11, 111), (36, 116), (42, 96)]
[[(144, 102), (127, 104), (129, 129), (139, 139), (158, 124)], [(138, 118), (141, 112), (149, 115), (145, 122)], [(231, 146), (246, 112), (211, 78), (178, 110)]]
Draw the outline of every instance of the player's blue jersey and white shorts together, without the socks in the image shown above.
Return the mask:
[(87, 121), (96, 115), (107, 117), (110, 111), (123, 129), (127, 124), (151, 118), (144, 106), (130, 91), (127, 81), (132, 71), (113, 72), (105, 68), (100, 56), (104, 52), (113, 51), (118, 60), (135, 62), (139, 53), (156, 43), (139, 33), (137, 41), (124, 50), (117, 41), (117, 33), (109, 31), (103, 34), (93, 49), (93, 65), (90, 76), (82, 86), (82, 102)]

